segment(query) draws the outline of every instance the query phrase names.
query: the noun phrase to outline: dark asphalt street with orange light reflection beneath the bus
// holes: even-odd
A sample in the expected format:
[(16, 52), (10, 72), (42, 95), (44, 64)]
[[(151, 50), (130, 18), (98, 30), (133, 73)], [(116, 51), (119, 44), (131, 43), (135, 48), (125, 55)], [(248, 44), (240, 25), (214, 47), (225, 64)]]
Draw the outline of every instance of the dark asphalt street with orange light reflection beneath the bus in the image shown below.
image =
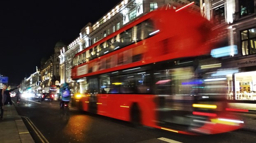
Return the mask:
[(39, 103), (21, 98), (21, 104), (15, 107), (36, 143), (254, 143), (256, 139), (255, 132), (248, 130), (189, 136), (146, 126), (132, 127), (125, 121), (81, 113), (72, 107), (66, 122), (59, 116), (58, 101)]

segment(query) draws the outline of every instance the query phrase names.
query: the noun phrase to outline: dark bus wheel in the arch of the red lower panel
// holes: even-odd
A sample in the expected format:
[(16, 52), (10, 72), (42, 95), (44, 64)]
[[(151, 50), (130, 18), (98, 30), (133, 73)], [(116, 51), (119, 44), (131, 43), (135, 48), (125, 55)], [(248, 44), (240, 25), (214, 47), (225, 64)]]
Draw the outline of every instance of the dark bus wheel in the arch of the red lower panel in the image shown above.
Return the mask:
[(130, 121), (134, 127), (141, 125), (141, 110), (139, 109), (138, 103), (134, 103), (131, 106)]

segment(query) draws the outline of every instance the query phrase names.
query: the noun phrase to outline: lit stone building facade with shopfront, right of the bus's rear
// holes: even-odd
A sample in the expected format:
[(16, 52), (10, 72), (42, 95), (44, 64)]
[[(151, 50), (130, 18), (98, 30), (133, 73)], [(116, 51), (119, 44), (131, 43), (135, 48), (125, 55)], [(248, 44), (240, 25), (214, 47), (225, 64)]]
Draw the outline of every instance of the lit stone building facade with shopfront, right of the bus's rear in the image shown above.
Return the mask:
[(201, 0), (202, 16), (226, 28), (233, 54), (223, 68), (236, 69), (228, 79), (228, 99), (256, 100), (256, 0)]

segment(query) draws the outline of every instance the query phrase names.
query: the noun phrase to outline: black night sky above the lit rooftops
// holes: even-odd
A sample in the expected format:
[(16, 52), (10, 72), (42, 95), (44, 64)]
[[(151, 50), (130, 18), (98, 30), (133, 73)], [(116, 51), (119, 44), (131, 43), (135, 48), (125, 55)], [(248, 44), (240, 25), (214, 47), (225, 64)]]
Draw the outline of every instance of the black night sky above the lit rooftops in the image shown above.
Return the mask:
[(73, 42), (121, 0), (1, 0), (0, 74), (19, 84), (54, 53), (56, 42)]

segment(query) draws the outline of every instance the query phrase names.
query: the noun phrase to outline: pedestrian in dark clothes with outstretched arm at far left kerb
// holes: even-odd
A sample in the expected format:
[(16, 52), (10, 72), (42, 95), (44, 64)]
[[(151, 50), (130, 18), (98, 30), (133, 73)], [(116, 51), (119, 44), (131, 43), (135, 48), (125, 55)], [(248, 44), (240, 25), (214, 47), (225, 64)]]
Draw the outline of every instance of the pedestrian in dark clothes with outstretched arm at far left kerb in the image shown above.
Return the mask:
[(14, 91), (15, 89), (19, 88), (21, 85), (18, 85), (17, 87), (7, 90), (7, 85), (3, 85), (2, 89), (0, 89), (0, 110), (1, 110), (1, 114), (0, 114), (0, 119), (3, 119), (3, 114), (4, 114), (4, 107), (5, 105), (7, 105), (8, 103), (10, 105), (12, 105), (12, 99), (10, 96), (10, 92)]

